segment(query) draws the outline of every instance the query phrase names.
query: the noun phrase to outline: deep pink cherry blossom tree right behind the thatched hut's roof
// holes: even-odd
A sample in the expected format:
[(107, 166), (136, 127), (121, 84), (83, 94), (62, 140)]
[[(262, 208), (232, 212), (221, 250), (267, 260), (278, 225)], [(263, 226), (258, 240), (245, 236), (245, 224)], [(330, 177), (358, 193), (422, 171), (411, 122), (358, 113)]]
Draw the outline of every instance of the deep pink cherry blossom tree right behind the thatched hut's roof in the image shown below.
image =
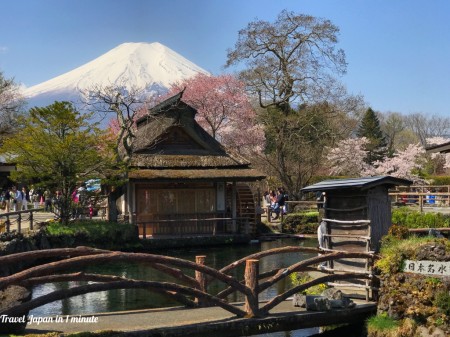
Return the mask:
[(232, 75), (198, 74), (172, 85), (168, 96), (182, 90), (182, 100), (197, 110), (197, 122), (215, 139), (241, 153), (262, 151), (264, 132), (243, 82)]

